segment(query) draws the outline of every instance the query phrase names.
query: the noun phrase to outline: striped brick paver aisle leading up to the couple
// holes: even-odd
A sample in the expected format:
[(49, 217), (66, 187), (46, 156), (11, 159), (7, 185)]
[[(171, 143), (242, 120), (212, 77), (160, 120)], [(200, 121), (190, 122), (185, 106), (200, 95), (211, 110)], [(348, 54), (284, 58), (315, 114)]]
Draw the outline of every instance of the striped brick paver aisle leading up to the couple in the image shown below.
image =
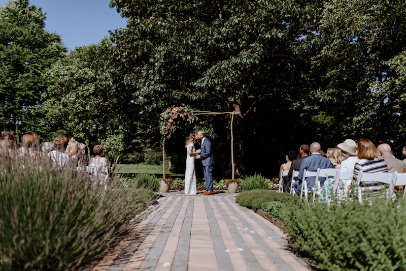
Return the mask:
[(311, 270), (278, 227), (234, 199), (166, 193), (91, 270)]

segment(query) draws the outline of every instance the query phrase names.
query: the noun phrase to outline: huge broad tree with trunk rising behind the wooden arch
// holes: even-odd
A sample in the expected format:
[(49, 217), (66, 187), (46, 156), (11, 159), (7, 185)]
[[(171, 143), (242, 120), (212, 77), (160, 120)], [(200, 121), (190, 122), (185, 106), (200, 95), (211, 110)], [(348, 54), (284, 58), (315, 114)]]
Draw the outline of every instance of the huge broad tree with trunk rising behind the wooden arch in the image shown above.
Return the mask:
[[(155, 115), (180, 103), (236, 111), (236, 170), (244, 173), (244, 130), (255, 124), (255, 108), (280, 107), (272, 103), (280, 96), (291, 103), (301, 91), (312, 54), (310, 42), (300, 39), (306, 35), (302, 25), (314, 20), (318, 2), (113, 0), (111, 5), (128, 18), (127, 28), (112, 33), (117, 46), (111, 66), (122, 78), (117, 91), (132, 92)], [(216, 130), (223, 132), (228, 123), (215, 124)]]

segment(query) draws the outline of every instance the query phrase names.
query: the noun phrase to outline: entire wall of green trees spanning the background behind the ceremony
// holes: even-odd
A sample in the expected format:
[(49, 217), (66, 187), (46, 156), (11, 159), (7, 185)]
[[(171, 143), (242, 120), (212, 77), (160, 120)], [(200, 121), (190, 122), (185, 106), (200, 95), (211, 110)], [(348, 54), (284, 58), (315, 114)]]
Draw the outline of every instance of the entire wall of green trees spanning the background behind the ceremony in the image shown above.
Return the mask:
[[(127, 27), (64, 56), (60, 38), (43, 29), (41, 9), (10, 2), (0, 10), (0, 117), (26, 129), (35, 120), (45, 136), (72, 132), (129, 154), (159, 146), (166, 108), (235, 111), (241, 174), (277, 172), (288, 150), (313, 141), (326, 149), (346, 137), (366, 137), (401, 148), (405, 5), (112, 0)], [(37, 28), (22, 15), (31, 13)], [(16, 16), (26, 26), (13, 24)], [(38, 56), (26, 58), (33, 52)], [(229, 117), (196, 122), (213, 135), (222, 172), (230, 163)], [(166, 141), (180, 171), (189, 132)]]

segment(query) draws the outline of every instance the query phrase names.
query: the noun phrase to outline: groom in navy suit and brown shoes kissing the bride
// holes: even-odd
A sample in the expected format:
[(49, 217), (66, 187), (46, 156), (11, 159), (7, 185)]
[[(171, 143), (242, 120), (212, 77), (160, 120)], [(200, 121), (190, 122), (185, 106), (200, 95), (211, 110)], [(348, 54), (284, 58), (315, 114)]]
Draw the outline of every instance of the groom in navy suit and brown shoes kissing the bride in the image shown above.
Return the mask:
[(197, 132), (197, 139), (201, 140), (201, 153), (196, 156), (196, 159), (201, 159), (203, 165), (203, 173), (205, 174), (206, 191), (200, 193), (201, 195), (213, 195), (213, 176), (212, 165), (214, 161), (212, 142), (205, 137), (205, 131)]

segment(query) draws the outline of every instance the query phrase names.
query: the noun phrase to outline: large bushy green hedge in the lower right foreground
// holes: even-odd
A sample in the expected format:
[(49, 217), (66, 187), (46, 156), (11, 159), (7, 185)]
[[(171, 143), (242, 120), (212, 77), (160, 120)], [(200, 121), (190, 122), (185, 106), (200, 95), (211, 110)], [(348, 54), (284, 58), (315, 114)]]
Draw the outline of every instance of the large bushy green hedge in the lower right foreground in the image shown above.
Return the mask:
[(360, 204), (289, 203), (289, 243), (323, 270), (406, 270), (406, 204), (385, 197)]

